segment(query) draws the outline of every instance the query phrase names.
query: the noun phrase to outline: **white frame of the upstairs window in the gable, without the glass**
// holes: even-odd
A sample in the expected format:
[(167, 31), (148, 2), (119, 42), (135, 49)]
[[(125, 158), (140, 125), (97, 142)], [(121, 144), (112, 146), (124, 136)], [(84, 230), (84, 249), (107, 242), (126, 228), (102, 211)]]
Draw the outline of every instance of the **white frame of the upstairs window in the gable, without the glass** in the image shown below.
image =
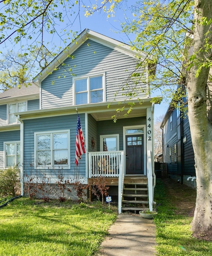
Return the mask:
[[(85, 76), (79, 76), (79, 77), (73, 77), (73, 105), (76, 105), (76, 92), (75, 92), (75, 81), (76, 80), (81, 80), (81, 79), (87, 79), (87, 90), (83, 91), (83, 92), (87, 92), (87, 103), (85, 104), (91, 104), (90, 101), (90, 78), (92, 77), (97, 77), (97, 76), (102, 76), (102, 89), (98, 89), (98, 90), (102, 90), (102, 94), (103, 94), (103, 101), (106, 101), (106, 81), (105, 81), (105, 72), (104, 73), (98, 73), (95, 75), (85, 75)], [(95, 90), (96, 91), (96, 90)], [(100, 103), (100, 102), (98, 102)], [(93, 104), (93, 103), (92, 103)], [(96, 103), (97, 104), (97, 103)], [(80, 105), (80, 104), (79, 104)], [(76, 105), (78, 106), (78, 105)]]

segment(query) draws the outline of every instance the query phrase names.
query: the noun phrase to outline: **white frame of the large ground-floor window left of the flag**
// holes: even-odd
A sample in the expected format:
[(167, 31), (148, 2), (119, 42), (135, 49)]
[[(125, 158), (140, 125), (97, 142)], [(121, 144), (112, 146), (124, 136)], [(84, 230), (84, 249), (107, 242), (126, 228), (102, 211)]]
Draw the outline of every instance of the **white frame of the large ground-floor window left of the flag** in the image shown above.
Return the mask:
[[(61, 134), (61, 133), (67, 133), (67, 148), (68, 148), (68, 164), (61, 164), (61, 165), (54, 165), (53, 163), (53, 134)], [(51, 141), (50, 141), (50, 150), (51, 150), (51, 165), (38, 165), (38, 157), (37, 157), (37, 136), (38, 135), (50, 135)], [(54, 168), (54, 169), (60, 169), (61, 167), (63, 169), (69, 169), (71, 166), (71, 157), (70, 157), (70, 130), (52, 130), (52, 131), (39, 131), (34, 132), (34, 167), (36, 169), (43, 169), (43, 168)]]

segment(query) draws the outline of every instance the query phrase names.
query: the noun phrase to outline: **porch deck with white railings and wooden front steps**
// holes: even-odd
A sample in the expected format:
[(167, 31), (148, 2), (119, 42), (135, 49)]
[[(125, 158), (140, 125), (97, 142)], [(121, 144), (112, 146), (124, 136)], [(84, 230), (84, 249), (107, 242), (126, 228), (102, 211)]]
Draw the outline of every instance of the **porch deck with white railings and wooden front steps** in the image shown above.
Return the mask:
[(148, 205), (149, 210), (152, 210), (154, 187), (150, 151), (147, 175), (125, 175), (124, 151), (89, 152), (88, 184), (100, 176), (105, 177), (108, 186), (118, 186), (119, 213), (124, 210), (141, 211), (144, 205)]

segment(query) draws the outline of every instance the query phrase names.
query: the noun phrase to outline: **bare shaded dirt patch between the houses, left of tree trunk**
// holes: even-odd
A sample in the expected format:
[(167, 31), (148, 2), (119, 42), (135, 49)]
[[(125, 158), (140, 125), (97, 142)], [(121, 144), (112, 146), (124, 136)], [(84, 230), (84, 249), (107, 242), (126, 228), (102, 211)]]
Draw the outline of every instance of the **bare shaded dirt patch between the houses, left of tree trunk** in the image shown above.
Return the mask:
[(171, 179), (162, 180), (176, 207), (175, 213), (192, 217), (195, 209), (196, 190)]

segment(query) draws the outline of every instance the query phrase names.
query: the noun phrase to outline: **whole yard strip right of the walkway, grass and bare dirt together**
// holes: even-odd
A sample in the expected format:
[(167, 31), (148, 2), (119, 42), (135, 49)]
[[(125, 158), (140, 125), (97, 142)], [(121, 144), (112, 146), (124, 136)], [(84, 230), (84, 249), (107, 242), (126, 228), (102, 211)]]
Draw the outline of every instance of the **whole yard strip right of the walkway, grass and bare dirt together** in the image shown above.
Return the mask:
[(156, 251), (158, 256), (209, 256), (211, 241), (192, 237), (190, 222), (195, 207), (196, 191), (173, 180), (157, 180), (155, 199), (158, 207)]

